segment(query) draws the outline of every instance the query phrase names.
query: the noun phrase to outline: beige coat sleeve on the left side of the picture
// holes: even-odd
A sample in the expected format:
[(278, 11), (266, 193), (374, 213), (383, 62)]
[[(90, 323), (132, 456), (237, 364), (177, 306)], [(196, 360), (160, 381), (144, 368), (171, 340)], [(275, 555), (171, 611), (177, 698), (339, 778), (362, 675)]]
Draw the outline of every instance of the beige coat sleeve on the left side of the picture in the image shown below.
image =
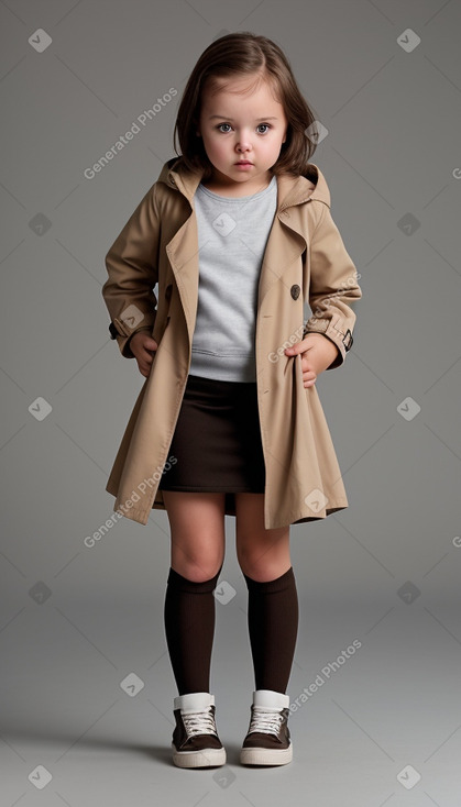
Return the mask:
[(102, 297), (109, 311), (111, 339), (122, 356), (133, 358), (130, 338), (152, 332), (158, 281), (160, 215), (154, 184), (134, 210), (105, 257), (108, 279)]

